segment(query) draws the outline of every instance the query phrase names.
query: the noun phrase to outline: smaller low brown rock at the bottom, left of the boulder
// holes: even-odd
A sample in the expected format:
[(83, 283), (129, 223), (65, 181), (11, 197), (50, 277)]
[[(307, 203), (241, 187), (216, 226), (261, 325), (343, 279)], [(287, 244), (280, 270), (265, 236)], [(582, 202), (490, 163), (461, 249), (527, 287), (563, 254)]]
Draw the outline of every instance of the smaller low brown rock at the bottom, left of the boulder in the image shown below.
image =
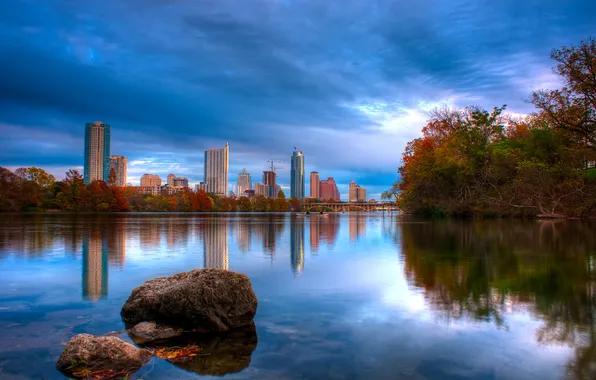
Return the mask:
[[(75, 335), (70, 339), (56, 368), (74, 377), (85, 371), (113, 370), (133, 372), (151, 359), (149, 350), (139, 349), (113, 336)], [(77, 376), (77, 373), (81, 374)]]

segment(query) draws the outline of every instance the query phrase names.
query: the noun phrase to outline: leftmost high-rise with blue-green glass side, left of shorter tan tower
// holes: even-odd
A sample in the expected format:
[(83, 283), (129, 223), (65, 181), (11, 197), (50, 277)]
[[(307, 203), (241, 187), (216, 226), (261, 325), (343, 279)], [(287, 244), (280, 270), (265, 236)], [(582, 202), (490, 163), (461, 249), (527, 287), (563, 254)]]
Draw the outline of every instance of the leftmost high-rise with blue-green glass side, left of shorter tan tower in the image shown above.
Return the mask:
[(101, 121), (85, 126), (84, 181), (108, 182), (110, 177), (110, 125)]

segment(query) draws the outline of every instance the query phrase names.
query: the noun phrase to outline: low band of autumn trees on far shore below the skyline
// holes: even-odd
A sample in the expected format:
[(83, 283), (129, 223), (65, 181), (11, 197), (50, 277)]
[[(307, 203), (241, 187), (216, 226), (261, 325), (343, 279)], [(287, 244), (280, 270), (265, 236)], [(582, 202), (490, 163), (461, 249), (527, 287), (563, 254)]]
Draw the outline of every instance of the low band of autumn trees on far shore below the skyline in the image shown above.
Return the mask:
[(181, 189), (172, 195), (141, 194), (136, 187), (108, 182), (85, 184), (82, 175), (69, 170), (63, 180), (40, 168), (19, 168), (12, 172), (0, 167), (0, 211), (148, 211), (148, 212), (287, 212), (301, 211), (297, 199), (286, 199), (283, 191), (276, 198), (259, 195), (231, 198), (207, 194), (203, 190)]

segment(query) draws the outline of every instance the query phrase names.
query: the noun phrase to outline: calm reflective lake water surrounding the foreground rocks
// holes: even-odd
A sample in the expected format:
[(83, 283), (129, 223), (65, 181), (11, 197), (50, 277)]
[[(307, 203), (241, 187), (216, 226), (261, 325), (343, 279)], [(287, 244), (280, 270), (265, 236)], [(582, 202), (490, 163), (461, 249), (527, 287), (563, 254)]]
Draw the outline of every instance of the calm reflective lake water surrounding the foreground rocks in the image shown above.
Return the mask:
[(595, 235), (381, 214), (0, 215), (0, 378), (62, 378), (64, 343), (122, 331), (133, 288), (217, 267), (250, 276), (257, 337), (137, 377), (593, 379)]

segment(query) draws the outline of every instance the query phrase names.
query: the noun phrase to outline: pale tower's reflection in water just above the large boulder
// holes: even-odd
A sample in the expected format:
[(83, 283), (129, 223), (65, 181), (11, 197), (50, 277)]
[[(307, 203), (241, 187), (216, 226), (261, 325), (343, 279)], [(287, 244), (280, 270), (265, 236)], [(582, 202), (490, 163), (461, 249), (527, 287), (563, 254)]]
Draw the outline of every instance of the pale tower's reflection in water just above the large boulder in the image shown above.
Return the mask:
[(204, 268), (228, 269), (228, 221), (212, 219), (202, 229)]

